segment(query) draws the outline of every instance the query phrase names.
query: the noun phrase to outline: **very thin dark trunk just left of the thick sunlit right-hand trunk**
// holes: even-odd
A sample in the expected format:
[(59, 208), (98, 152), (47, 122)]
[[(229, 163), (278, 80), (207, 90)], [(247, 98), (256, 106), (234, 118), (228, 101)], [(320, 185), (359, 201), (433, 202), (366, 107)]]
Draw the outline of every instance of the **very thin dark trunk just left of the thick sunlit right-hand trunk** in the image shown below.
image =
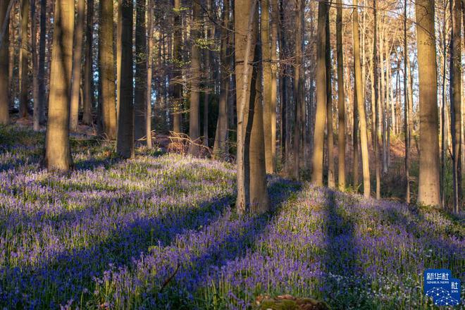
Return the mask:
[(409, 96), (407, 93), (407, 0), (404, 0), (404, 135), (405, 135), (405, 201), (410, 203), (410, 128), (409, 128)]

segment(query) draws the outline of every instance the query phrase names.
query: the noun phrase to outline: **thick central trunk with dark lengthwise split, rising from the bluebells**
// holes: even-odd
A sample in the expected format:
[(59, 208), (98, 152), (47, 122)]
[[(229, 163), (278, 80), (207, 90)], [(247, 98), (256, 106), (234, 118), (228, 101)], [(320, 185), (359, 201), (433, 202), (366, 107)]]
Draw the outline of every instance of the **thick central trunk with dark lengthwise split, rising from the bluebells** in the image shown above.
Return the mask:
[[(237, 201), (239, 212), (268, 211), (263, 111), (258, 95), (258, 1), (235, 1), (235, 67), (237, 97)], [(252, 56), (253, 57), (250, 57)], [(252, 63), (250, 61), (252, 60)]]

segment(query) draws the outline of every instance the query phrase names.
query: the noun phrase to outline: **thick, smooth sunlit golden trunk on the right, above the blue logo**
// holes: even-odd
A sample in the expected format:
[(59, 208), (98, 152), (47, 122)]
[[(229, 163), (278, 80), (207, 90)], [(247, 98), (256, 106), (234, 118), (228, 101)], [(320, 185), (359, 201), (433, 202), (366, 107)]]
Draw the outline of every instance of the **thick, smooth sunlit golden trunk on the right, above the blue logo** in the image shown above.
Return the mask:
[(418, 202), (439, 206), (438, 76), (433, 0), (417, 0), (419, 59), (420, 158)]

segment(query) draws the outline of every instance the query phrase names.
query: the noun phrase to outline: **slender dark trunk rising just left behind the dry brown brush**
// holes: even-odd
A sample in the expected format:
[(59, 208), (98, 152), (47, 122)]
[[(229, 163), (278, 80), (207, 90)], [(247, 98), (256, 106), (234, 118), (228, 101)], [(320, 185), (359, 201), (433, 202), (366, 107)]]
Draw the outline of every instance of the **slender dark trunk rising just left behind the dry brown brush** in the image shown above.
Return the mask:
[(173, 39), (173, 61), (174, 61), (174, 85), (173, 85), (173, 132), (181, 132), (181, 110), (182, 110), (182, 24), (181, 24), (181, 0), (174, 0), (174, 39)]

